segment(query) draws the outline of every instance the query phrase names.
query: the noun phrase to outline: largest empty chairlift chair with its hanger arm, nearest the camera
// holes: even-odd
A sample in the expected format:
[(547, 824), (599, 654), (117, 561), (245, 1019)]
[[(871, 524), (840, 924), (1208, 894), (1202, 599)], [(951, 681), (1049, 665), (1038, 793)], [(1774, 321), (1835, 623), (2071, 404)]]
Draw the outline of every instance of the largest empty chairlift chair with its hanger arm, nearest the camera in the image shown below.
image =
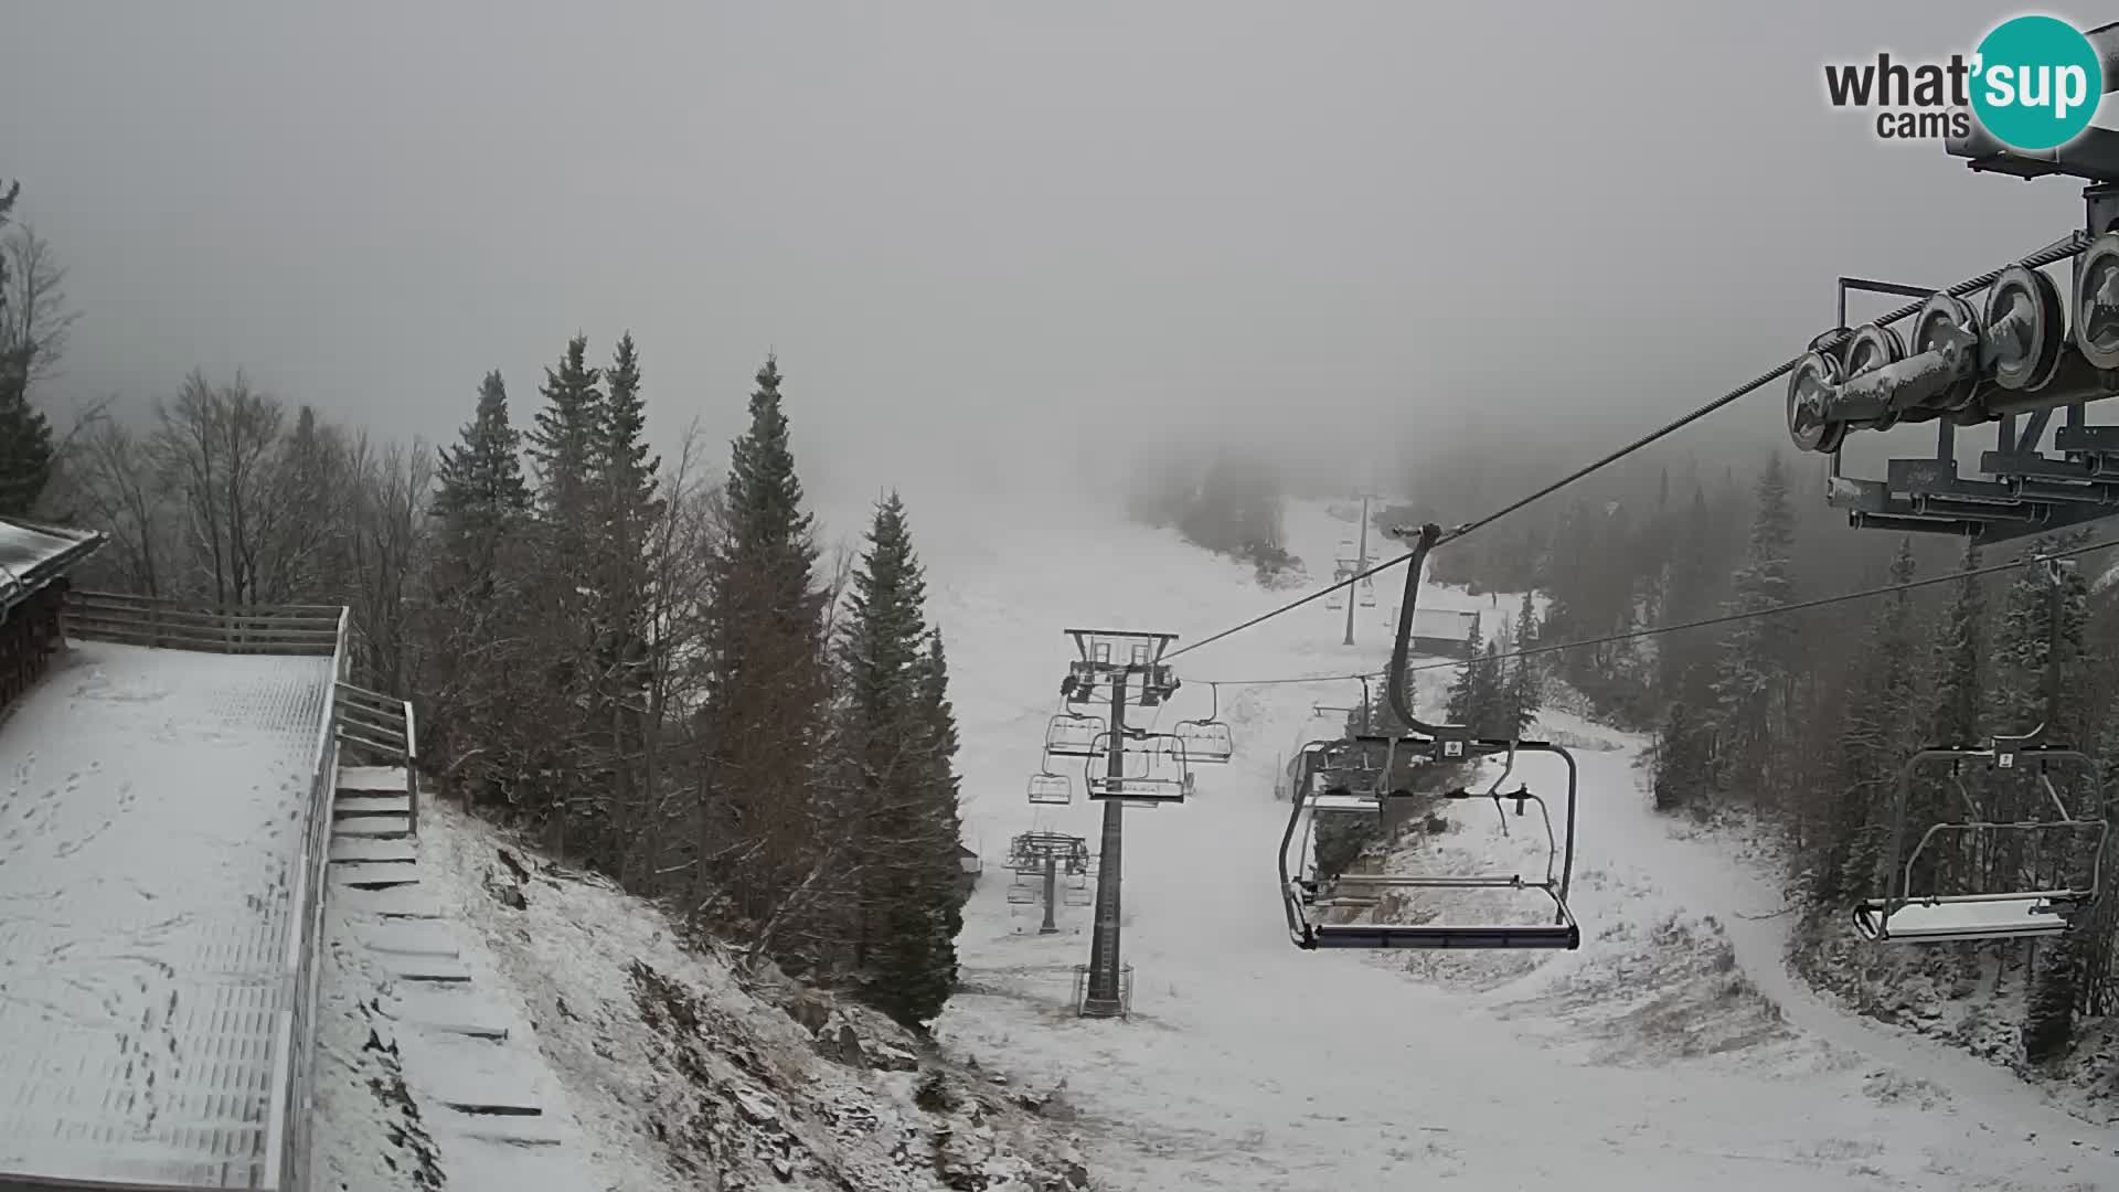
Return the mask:
[[(1496, 806), (1507, 800), (1524, 810), (1528, 804), (1538, 806), (1538, 819), (1545, 823), (1545, 874), (1526, 878), (1521, 874), (1483, 874), (1483, 876), (1405, 876), (1405, 874), (1384, 874), (1371, 876), (1363, 874), (1363, 887), (1379, 889), (1405, 889), (1405, 891), (1443, 891), (1443, 889), (1511, 889), (1511, 891), (1534, 891), (1551, 899), (1551, 921), (1549, 923), (1316, 923), (1312, 918), (1312, 908), (1320, 904), (1320, 891), (1329, 889), (1331, 878), (1337, 874), (1316, 874), (1314, 859), (1307, 848), (1301, 853), (1295, 848), (1297, 836), (1307, 840), (1307, 819), (1314, 814), (1307, 800), (1290, 800), (1288, 825), (1280, 838), (1280, 891), (1282, 904), (1288, 921), (1288, 937), (1297, 948), (1581, 948), (1581, 925), (1574, 923), (1574, 912), (1568, 910), (1568, 880), (1574, 870), (1574, 795), (1579, 772), (1574, 766), (1574, 755), (1564, 747), (1549, 744), (1543, 740), (1488, 740), (1477, 738), (1458, 725), (1432, 725), (1413, 715), (1411, 698), (1407, 694), (1407, 662), (1411, 653), (1411, 628), (1413, 609), (1420, 598), (1420, 573), (1426, 556), (1441, 541), (1441, 526), (1426, 524), (1418, 530), (1418, 543), (1413, 554), (1407, 558), (1405, 566), (1405, 598), (1399, 607), (1399, 632), (1390, 651), (1390, 670), (1386, 681), (1386, 696), (1390, 698), (1390, 708), (1396, 713), (1399, 721), (1411, 732), (1407, 736), (1360, 736), (1365, 744), (1386, 744), (1392, 751), (1392, 759), (1399, 755), (1411, 755), (1420, 759), (1456, 759), (1456, 757), (1490, 757), (1502, 755), (1507, 766), (1500, 776), (1483, 793), (1452, 791), (1445, 797), (1452, 800), (1492, 800)], [(1551, 808), (1547, 802), (1532, 793), (1528, 785), (1519, 785), (1515, 791), (1502, 791), (1500, 787), (1513, 776), (1515, 759), (1521, 753), (1551, 753), (1566, 766), (1566, 808), (1562, 817), (1562, 827), (1553, 825)], [(1384, 797), (1394, 797), (1396, 791), (1388, 787), (1390, 766), (1386, 764), (1386, 783), (1379, 787)]]

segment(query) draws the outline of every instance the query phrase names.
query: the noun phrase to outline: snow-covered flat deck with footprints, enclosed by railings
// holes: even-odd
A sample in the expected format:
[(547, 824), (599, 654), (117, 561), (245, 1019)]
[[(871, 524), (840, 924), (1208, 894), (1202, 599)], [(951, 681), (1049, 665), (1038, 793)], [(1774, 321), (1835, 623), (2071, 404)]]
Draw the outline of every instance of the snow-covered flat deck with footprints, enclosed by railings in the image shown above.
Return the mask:
[(0, 1173), (259, 1175), (328, 681), (328, 658), (74, 643), (13, 708)]

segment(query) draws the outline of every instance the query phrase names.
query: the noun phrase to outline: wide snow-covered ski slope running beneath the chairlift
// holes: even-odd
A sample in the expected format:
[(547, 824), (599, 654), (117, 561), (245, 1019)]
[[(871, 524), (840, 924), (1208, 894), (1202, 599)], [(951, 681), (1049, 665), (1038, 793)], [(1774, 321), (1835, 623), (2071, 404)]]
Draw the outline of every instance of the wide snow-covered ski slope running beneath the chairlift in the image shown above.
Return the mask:
[[(1314, 702), (1350, 704), (1358, 687), (1225, 687), (1233, 764), (1204, 768), (1180, 808), (1127, 812), (1134, 1018), (1072, 1018), (1089, 910), (1038, 935), (1034, 908), (1004, 901), (1000, 865), (1034, 825), (1096, 838), (1098, 806), (1079, 793), (1057, 810), (1023, 797), (1070, 658), (1062, 628), (1197, 641), (1284, 596), (1089, 505), (905, 496), (949, 645), (966, 840), (987, 863), (960, 937), (964, 991), (939, 1033), (1017, 1082), (1064, 1080), (1112, 1188), (2119, 1188), (2111, 1130), (1797, 988), (1776, 882), (1646, 808), (1638, 740), (1564, 715), (1545, 730), (1608, 747), (1579, 751), (1581, 952), (1299, 952), (1274, 878), (1286, 823), (1274, 770), (1331, 728), (1310, 721)], [(831, 513), (833, 532), (862, 524), (858, 509)], [(1329, 575), (1346, 524), (1320, 507), (1286, 524), (1290, 549)], [(1379, 668), (1394, 588), (1379, 596), (1358, 611), (1356, 647), (1318, 602), (1187, 655), (1161, 719), (1204, 713), (1206, 679)], [(1490, 607), (1435, 588), (1422, 602)], [(1511, 613), (1502, 598), (1490, 617)], [(1445, 677), (1428, 674), (1430, 698)], [(1519, 776), (1557, 793), (1551, 759)], [(1528, 855), (1483, 804), (1437, 846)]]

